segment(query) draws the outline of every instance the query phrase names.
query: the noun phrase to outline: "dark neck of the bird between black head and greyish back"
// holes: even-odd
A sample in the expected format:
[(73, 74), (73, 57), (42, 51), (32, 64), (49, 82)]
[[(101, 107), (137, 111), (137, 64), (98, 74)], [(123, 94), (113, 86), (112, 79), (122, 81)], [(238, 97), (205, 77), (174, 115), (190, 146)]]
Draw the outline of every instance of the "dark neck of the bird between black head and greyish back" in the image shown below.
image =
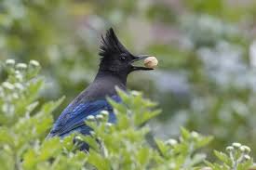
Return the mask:
[(108, 71), (99, 71), (95, 77), (94, 81), (104, 80), (113, 85), (117, 85), (120, 88), (126, 89), (127, 86), (127, 75), (119, 75), (115, 72), (108, 72)]

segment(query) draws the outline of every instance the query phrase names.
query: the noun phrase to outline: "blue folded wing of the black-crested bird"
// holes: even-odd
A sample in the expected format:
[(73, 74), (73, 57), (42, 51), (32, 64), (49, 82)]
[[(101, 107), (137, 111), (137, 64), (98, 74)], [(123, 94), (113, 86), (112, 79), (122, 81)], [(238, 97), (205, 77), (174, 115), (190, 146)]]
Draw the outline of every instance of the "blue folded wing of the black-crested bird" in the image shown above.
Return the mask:
[[(111, 98), (113, 98), (116, 102), (121, 101), (118, 96), (113, 96)], [(79, 103), (76, 106), (70, 104), (64, 111), (62, 111), (61, 116), (53, 125), (48, 137), (65, 137), (74, 131), (88, 135), (91, 128), (85, 124), (85, 120), (87, 119), (88, 115), (95, 116), (103, 110), (109, 111), (109, 122), (115, 123), (115, 113), (113, 112), (112, 106), (107, 102), (106, 99)]]

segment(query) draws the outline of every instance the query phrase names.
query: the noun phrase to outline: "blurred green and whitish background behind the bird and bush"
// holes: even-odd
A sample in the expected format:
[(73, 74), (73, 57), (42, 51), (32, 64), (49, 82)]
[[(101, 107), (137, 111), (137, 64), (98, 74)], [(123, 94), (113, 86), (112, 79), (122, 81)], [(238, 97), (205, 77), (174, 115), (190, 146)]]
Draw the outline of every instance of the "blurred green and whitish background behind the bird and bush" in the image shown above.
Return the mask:
[(256, 156), (256, 1), (1, 0), (0, 59), (39, 60), (41, 99), (67, 97), (58, 116), (93, 80), (110, 27), (132, 53), (159, 59), (128, 79), (163, 110), (156, 136), (185, 126), (213, 135), (211, 148), (239, 141)]

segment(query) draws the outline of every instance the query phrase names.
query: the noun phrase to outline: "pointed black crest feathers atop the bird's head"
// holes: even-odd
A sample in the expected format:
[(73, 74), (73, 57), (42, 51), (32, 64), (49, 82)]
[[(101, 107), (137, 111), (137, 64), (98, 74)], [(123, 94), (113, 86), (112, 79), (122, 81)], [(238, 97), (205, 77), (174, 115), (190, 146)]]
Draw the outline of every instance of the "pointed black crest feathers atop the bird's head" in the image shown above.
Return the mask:
[(128, 49), (123, 46), (115, 35), (113, 28), (110, 28), (106, 35), (101, 36), (101, 46), (99, 55), (102, 58), (111, 56), (113, 54), (128, 53)]

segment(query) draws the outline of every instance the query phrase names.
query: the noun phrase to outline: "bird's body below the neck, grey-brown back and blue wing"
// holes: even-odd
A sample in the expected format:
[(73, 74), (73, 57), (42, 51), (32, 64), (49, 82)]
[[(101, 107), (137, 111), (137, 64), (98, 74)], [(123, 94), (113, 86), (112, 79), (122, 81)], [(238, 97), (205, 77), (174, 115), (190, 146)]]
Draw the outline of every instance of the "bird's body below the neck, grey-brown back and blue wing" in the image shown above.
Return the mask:
[(65, 137), (73, 132), (88, 135), (91, 129), (85, 124), (85, 120), (89, 115), (95, 116), (101, 111), (109, 111), (109, 122), (115, 123), (115, 113), (106, 100), (106, 97), (109, 97), (117, 102), (121, 101), (116, 94), (115, 85), (123, 90), (126, 88), (126, 85), (120, 83), (114, 76), (97, 77), (61, 112), (47, 137)]

